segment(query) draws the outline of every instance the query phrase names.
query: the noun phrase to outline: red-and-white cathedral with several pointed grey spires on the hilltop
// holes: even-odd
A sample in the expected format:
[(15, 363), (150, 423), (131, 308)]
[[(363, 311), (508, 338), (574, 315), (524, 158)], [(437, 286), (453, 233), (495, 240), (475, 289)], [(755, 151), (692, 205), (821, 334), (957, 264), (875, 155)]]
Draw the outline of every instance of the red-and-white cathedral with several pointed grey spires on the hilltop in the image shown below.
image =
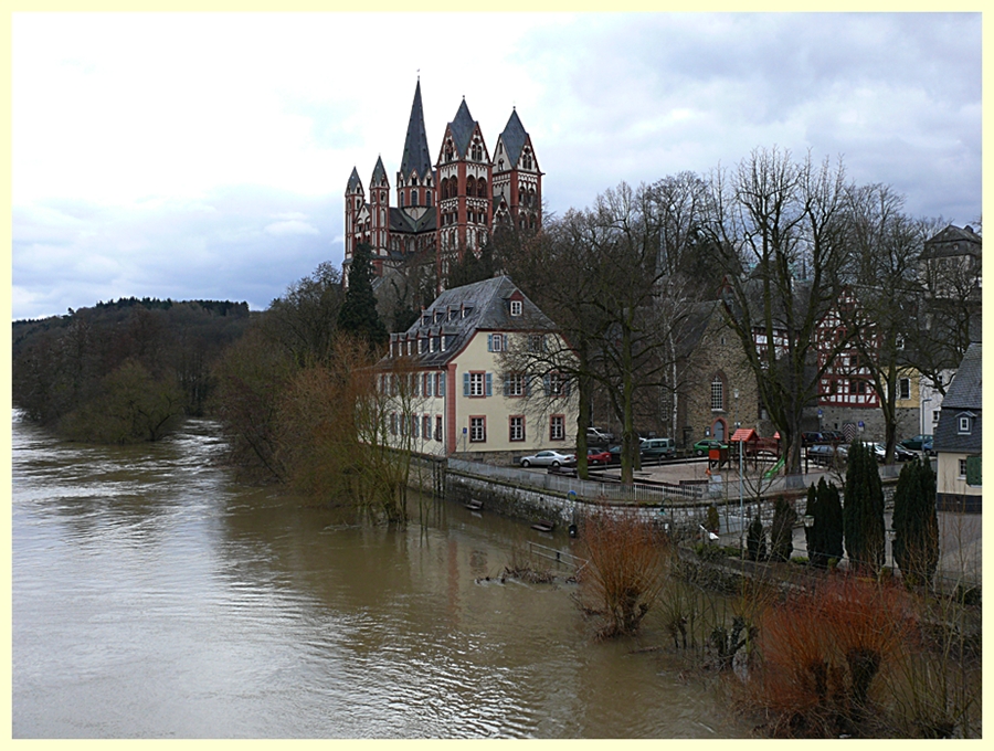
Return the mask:
[(495, 228), (541, 228), (542, 172), (518, 113), (511, 110), (491, 157), (464, 98), (432, 165), (420, 80), (394, 184), (396, 204), (391, 205), (387, 169), (377, 159), (367, 197), (352, 168), (345, 194), (346, 278), (356, 247), (368, 243), (377, 275), (411, 256), (430, 258), (442, 288), (450, 261), (467, 251), (478, 254)]

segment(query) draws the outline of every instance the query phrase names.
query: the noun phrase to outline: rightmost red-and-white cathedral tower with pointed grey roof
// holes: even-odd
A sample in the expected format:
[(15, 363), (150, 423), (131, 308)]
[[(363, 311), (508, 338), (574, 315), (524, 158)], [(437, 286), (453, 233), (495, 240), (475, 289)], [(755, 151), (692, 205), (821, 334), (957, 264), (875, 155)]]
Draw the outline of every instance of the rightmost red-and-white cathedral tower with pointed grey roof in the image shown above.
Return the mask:
[(494, 149), (494, 223), (537, 232), (542, 226), (542, 172), (516, 109)]

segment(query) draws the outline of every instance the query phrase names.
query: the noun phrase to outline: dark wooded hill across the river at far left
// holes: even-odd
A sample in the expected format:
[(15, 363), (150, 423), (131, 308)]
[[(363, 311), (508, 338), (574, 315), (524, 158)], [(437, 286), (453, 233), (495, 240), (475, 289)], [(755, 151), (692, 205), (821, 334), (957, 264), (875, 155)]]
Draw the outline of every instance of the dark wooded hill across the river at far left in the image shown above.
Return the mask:
[(65, 437), (155, 441), (209, 411), (246, 303), (135, 297), (12, 324), (14, 405)]

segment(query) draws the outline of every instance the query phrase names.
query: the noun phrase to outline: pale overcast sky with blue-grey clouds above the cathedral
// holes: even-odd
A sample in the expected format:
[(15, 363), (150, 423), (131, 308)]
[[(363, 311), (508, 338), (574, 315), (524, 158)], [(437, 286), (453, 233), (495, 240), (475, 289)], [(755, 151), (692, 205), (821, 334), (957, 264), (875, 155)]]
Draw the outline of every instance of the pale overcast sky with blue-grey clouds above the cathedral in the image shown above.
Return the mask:
[[(264, 309), (341, 264), (342, 195), (391, 186), (417, 76), (512, 107), (548, 208), (755, 147), (842, 156), (912, 215), (981, 216), (981, 15), (15, 14), (12, 316), (119, 297)], [(462, 41), (461, 41), (462, 40)], [(395, 193), (391, 191), (391, 201)]]

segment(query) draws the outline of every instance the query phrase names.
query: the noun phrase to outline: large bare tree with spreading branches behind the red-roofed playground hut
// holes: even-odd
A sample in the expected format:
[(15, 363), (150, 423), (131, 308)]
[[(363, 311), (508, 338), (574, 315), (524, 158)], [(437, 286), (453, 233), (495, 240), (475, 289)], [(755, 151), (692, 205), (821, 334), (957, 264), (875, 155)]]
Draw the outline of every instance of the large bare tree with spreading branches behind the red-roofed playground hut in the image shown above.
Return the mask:
[(789, 151), (757, 149), (730, 179), (715, 172), (712, 199), (702, 232), (722, 257), (727, 319), (786, 446), (785, 469), (795, 474), (804, 408), (848, 345), (844, 336), (818, 339), (849, 260), (845, 170), (810, 155), (797, 162)]

